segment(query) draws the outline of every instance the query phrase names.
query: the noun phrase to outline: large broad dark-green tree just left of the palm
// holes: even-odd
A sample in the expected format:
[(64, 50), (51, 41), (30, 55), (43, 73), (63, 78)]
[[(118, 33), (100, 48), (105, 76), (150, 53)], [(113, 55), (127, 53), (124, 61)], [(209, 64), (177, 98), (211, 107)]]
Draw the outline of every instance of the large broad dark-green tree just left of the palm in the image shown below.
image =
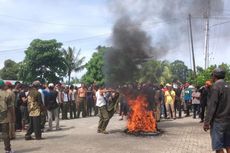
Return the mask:
[(26, 82), (41, 79), (59, 82), (66, 75), (66, 65), (60, 50), (62, 43), (52, 40), (35, 39), (25, 51), (20, 78)]

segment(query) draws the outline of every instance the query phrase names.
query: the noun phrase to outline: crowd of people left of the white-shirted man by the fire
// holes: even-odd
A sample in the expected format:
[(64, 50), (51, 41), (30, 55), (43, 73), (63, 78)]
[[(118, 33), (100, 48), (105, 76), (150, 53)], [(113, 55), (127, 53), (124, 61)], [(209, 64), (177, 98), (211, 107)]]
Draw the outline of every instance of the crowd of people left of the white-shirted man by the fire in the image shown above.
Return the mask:
[[(25, 139), (42, 139), (42, 132), (61, 130), (59, 118), (63, 120), (86, 116), (96, 116), (95, 88), (67, 86), (53, 83), (41, 84), (34, 81), (31, 85), (0, 80), (0, 125), (3, 133), (5, 150), (10, 152), (10, 140), (15, 139), (15, 132), (26, 131)], [(93, 114), (94, 113), (94, 114)], [(48, 127), (45, 129), (45, 123)], [(8, 131), (8, 132), (7, 132)]]

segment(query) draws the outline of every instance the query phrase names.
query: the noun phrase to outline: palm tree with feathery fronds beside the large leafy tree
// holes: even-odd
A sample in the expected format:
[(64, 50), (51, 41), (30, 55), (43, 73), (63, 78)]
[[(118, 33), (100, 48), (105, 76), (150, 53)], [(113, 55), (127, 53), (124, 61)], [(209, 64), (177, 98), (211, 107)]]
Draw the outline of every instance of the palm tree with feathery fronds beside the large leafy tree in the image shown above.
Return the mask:
[(85, 57), (80, 58), (80, 51), (75, 55), (75, 48), (68, 47), (67, 50), (63, 49), (65, 65), (67, 67), (67, 75), (68, 75), (68, 84), (70, 84), (70, 77), (73, 71), (79, 72), (84, 69), (85, 65), (82, 65)]

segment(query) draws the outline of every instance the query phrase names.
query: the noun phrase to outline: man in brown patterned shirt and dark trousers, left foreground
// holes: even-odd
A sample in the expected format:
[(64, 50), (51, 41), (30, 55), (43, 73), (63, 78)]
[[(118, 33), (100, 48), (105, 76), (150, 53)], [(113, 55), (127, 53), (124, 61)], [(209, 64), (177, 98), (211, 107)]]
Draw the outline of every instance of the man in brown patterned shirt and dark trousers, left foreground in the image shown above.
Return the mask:
[(28, 94), (28, 111), (29, 111), (29, 128), (25, 135), (26, 140), (31, 140), (31, 134), (35, 133), (37, 140), (41, 139), (41, 112), (42, 112), (42, 97), (41, 93), (38, 92), (40, 87), (39, 81), (34, 81), (32, 88)]

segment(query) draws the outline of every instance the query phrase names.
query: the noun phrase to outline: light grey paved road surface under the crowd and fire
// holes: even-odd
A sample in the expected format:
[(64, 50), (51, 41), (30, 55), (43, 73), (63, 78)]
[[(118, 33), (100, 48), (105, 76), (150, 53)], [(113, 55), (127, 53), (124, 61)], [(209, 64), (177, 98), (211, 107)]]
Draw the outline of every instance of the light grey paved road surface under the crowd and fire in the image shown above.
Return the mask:
[[(43, 140), (25, 141), (25, 132), (17, 132), (12, 141), (15, 153), (209, 153), (210, 136), (192, 117), (162, 120), (158, 136), (132, 136), (124, 133), (126, 120), (115, 115), (110, 134), (97, 133), (98, 117), (60, 121), (61, 131), (43, 133)], [(4, 150), (1, 141), (0, 150)]]

